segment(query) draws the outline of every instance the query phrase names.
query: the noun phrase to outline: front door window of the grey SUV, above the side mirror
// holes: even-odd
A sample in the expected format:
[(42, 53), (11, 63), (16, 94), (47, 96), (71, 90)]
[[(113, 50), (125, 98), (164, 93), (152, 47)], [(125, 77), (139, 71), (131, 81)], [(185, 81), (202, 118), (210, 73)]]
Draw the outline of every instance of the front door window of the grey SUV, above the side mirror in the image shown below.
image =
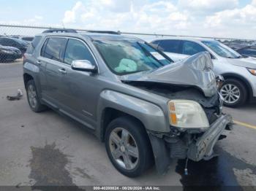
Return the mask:
[(64, 63), (71, 65), (72, 61), (88, 60), (95, 64), (94, 57), (83, 42), (75, 39), (69, 39), (64, 56)]

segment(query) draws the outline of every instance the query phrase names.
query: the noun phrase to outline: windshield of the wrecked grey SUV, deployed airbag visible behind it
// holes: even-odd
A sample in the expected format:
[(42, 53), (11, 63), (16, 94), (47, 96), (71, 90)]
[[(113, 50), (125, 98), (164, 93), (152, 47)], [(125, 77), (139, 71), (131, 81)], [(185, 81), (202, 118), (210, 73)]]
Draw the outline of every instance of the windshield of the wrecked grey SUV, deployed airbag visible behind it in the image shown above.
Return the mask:
[(106, 40), (94, 41), (94, 45), (110, 70), (118, 75), (158, 69), (172, 63), (146, 42)]

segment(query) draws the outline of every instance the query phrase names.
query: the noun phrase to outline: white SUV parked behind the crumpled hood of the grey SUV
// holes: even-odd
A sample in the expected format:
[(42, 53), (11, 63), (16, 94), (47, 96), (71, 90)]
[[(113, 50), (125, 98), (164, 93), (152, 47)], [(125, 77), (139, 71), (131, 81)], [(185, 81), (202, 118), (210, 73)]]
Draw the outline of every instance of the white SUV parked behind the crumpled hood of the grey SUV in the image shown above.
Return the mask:
[(240, 55), (225, 44), (213, 39), (168, 38), (151, 42), (173, 61), (181, 61), (198, 52), (209, 52), (216, 75), (225, 82), (220, 93), (225, 106), (241, 106), (256, 99), (256, 60)]

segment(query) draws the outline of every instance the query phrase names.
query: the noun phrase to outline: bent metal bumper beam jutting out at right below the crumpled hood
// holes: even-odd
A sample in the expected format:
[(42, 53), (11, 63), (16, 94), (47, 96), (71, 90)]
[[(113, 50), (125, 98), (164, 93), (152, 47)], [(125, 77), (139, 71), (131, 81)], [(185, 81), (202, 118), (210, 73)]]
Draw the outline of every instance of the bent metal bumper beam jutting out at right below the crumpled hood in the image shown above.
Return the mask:
[(214, 122), (205, 133), (203, 133), (203, 136), (201, 136), (195, 143), (189, 145), (187, 157), (194, 161), (211, 158), (214, 145), (227, 127), (227, 124), (231, 122), (232, 117), (229, 114), (219, 117), (219, 119)]

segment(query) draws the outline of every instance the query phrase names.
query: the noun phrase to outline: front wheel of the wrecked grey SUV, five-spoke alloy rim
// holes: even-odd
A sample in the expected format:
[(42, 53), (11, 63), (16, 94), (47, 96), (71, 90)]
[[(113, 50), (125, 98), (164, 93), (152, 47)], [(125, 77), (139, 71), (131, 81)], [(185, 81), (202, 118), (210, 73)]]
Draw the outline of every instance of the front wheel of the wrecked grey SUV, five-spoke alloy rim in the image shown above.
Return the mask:
[[(114, 135), (119, 137), (120, 140), (118, 139), (118, 141), (124, 141), (124, 144), (119, 144), (117, 146), (116, 141), (113, 141), (113, 137), (117, 140), (116, 136), (113, 136), (112, 133), (116, 133)], [(124, 135), (129, 133), (129, 136), (121, 136), (123, 133)], [(128, 137), (128, 139), (122, 139), (123, 137)], [(128, 144), (125, 144), (125, 142), (128, 142)], [(111, 163), (125, 176), (140, 176), (153, 165), (152, 149), (146, 130), (132, 117), (119, 117), (110, 122), (105, 133), (105, 147)], [(116, 152), (117, 150), (118, 152)], [(130, 151), (129, 153), (132, 153), (133, 156), (129, 155), (128, 151)], [(136, 155), (134, 155), (135, 153)], [(118, 157), (120, 154), (121, 156)], [(117, 156), (116, 159), (113, 155)], [(130, 163), (125, 165), (124, 159), (127, 159), (127, 157), (129, 158)]]

